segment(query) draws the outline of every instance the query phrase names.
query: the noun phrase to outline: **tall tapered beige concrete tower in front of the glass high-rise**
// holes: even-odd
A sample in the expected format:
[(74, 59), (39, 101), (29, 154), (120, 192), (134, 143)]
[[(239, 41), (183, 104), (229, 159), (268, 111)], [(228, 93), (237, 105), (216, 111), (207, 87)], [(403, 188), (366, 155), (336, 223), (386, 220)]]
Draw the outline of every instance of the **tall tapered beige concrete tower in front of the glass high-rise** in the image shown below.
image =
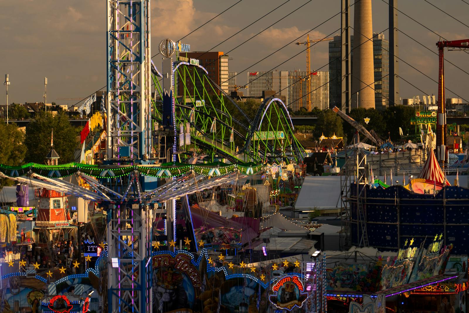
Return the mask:
[(371, 0), (355, 0), (352, 104), (353, 107), (375, 107), (373, 65), (373, 26)]

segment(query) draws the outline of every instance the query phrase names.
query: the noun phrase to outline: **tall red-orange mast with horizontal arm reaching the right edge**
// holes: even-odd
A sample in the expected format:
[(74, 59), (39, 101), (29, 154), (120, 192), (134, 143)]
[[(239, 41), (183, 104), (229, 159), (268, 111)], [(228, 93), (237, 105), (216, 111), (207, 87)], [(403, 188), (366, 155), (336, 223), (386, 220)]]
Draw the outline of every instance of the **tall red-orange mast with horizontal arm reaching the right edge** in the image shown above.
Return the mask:
[[(438, 159), (444, 161), (448, 160), (448, 153), (446, 149), (446, 107), (445, 107), (445, 67), (443, 49), (446, 48), (469, 48), (469, 39), (452, 40), (452, 41), (439, 41), (438, 46), (439, 57), (439, 73), (438, 73), (438, 116), (437, 116), (437, 147), (439, 147)], [(444, 150), (442, 150), (444, 149)], [(444, 153), (442, 152), (444, 151)]]

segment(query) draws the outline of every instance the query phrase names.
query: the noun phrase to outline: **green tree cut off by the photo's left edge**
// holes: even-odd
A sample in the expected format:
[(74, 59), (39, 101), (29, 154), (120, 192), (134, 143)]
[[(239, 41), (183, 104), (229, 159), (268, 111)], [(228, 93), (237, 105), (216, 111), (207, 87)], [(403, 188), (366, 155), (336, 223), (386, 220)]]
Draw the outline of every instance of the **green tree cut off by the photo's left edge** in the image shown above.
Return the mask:
[[(15, 123), (0, 120), (0, 164), (21, 165), (26, 153), (24, 132)], [(12, 180), (0, 179), (0, 186), (11, 186)]]

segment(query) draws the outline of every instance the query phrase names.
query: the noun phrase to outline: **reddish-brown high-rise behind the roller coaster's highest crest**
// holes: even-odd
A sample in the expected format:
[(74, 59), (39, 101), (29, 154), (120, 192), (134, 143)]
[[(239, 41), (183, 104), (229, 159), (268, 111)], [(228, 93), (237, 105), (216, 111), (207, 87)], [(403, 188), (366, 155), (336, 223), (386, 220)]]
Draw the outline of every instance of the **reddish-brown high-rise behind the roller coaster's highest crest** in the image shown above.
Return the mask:
[[(224, 55), (221, 51), (197, 51), (197, 52), (182, 52), (179, 54), (181, 57), (188, 59), (197, 59), (199, 64), (204, 67), (208, 72), (208, 77), (212, 79), (215, 84), (219, 85), (221, 90), (228, 93), (228, 55)], [(201, 70), (201, 69), (200, 69)], [(190, 77), (186, 76), (186, 86), (190, 94), (194, 93), (194, 84), (190, 83)], [(204, 84), (208, 93), (214, 93), (210, 84)], [(182, 95), (184, 85), (181, 81), (178, 82), (178, 96)], [(200, 90), (202, 84), (199, 79), (196, 79), (196, 88)], [(219, 93), (219, 92), (217, 92)]]

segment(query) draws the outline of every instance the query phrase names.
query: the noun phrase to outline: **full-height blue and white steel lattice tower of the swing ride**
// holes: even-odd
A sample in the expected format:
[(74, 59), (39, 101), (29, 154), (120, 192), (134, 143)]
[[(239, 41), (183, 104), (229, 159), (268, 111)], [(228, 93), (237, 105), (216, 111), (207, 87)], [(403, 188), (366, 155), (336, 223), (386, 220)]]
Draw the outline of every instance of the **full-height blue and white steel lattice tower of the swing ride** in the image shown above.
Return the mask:
[[(151, 153), (150, 0), (106, 0), (106, 162), (144, 163)], [(151, 211), (139, 174), (129, 175), (132, 201), (108, 210), (108, 312), (151, 312)], [(133, 189), (131, 189), (133, 186)], [(135, 196), (135, 197), (134, 197)]]

